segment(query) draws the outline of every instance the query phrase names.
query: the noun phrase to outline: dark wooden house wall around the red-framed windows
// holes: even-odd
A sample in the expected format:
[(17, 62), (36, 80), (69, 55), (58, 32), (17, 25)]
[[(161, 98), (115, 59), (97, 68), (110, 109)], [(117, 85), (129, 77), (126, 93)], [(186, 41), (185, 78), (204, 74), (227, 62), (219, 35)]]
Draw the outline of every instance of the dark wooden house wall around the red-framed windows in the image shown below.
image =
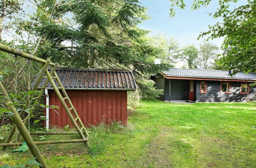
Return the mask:
[(230, 93), (220, 93), (221, 81), (207, 82), (207, 92), (200, 93), (200, 80), (197, 80), (196, 89), (196, 101), (197, 102), (246, 102), (252, 100), (255, 97), (256, 87), (250, 87), (249, 94), (240, 94), (240, 82), (230, 81)]

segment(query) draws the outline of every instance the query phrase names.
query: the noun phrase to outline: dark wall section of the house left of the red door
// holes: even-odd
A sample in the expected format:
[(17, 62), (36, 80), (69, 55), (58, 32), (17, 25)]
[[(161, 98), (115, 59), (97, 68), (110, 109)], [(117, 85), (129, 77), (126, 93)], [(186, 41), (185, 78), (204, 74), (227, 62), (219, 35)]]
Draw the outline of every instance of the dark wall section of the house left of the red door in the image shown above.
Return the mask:
[(170, 100), (188, 100), (188, 81), (182, 79), (165, 79), (165, 100), (169, 100), (169, 82)]

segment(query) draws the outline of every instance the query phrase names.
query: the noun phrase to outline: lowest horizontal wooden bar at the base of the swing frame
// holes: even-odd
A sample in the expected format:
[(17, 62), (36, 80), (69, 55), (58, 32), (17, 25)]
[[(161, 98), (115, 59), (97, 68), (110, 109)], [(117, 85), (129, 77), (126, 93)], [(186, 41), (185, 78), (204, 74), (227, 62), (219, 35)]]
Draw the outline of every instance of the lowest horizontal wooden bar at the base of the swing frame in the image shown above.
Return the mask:
[[(69, 139), (69, 140), (60, 140), (60, 141), (36, 141), (36, 145), (46, 145), (46, 144), (65, 144), (65, 143), (83, 143), (87, 142), (87, 139)], [(23, 143), (3, 143), (0, 144), (0, 147), (10, 147), (10, 146), (21, 146)]]

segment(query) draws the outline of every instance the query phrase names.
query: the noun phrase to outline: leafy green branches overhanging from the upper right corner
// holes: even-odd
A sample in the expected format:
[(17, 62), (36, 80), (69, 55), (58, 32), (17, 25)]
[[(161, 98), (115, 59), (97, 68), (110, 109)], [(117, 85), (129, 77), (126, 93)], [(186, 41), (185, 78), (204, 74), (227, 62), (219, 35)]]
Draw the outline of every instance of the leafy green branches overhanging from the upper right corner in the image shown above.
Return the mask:
[[(183, 0), (170, 0), (174, 5), (184, 9)], [(212, 0), (197, 1), (194, 0), (191, 9), (206, 7)], [(237, 3), (237, 0), (219, 1), (219, 8), (214, 14), (214, 18), (223, 18), (222, 22), (215, 25), (209, 25), (209, 30), (202, 33), (200, 37), (207, 36), (207, 39), (224, 37), (221, 49), (223, 50), (222, 58), (219, 65), (224, 69), (232, 70), (232, 74), (237, 72), (256, 72), (255, 57), (255, 15), (256, 2), (248, 0), (246, 5), (230, 10), (229, 4)], [(174, 10), (171, 10), (173, 15)]]

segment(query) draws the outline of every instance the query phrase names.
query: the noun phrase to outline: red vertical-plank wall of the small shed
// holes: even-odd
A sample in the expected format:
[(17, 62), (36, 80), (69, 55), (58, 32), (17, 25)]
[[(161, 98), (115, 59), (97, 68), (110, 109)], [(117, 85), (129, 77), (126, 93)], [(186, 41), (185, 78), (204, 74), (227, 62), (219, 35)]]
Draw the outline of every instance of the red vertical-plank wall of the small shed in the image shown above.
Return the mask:
[[(110, 124), (111, 121), (121, 121), (126, 125), (126, 91), (67, 90), (67, 93), (84, 125), (97, 125), (101, 122)], [(65, 127), (68, 124), (72, 126), (71, 120), (53, 90), (49, 90), (49, 101), (50, 105), (59, 106), (59, 109), (49, 110), (50, 126)]]

